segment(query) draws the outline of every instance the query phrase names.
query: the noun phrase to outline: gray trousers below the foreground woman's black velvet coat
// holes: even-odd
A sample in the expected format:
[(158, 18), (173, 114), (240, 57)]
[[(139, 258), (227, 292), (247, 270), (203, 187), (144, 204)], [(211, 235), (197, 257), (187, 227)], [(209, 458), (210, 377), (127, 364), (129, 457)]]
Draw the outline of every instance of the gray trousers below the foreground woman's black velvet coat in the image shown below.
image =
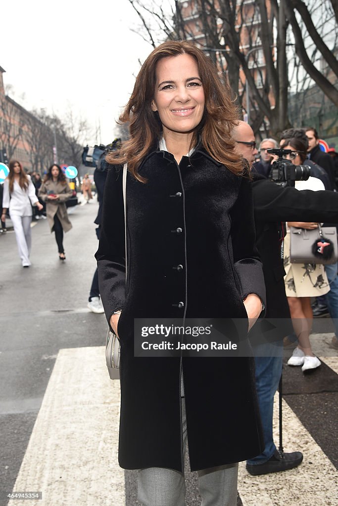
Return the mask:
[[(183, 453), (186, 448), (185, 402), (182, 398)], [(236, 506), (238, 463), (198, 471), (201, 506)], [(174, 469), (138, 471), (138, 501), (144, 506), (185, 506), (184, 473)]]

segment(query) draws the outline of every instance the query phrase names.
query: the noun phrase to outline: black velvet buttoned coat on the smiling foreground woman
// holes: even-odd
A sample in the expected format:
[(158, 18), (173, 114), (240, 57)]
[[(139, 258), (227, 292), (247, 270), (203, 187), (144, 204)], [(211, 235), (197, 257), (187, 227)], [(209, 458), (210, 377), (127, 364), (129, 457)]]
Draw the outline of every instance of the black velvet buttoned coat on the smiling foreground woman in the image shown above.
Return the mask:
[(179, 165), (154, 151), (139, 173), (146, 184), (127, 175), (127, 283), (121, 167), (107, 176), (96, 253), (107, 320), (123, 308), (120, 465), (182, 471), (181, 369), (191, 469), (253, 457), (264, 445), (251, 358), (135, 358), (133, 348), (134, 318), (246, 318), (248, 293), (265, 300), (251, 184), (203, 149)]

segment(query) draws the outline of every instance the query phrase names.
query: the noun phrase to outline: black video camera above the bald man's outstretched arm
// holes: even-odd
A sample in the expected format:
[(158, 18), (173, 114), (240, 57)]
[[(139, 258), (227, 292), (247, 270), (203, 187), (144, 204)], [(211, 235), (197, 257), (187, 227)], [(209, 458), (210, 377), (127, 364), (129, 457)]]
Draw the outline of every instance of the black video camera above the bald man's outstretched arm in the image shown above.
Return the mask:
[(271, 166), (269, 179), (281, 186), (293, 186), (295, 181), (306, 181), (310, 177), (310, 167), (307, 165), (293, 165), (283, 156), (291, 153), (290, 149), (267, 149), (267, 153), (277, 155), (278, 160)]

